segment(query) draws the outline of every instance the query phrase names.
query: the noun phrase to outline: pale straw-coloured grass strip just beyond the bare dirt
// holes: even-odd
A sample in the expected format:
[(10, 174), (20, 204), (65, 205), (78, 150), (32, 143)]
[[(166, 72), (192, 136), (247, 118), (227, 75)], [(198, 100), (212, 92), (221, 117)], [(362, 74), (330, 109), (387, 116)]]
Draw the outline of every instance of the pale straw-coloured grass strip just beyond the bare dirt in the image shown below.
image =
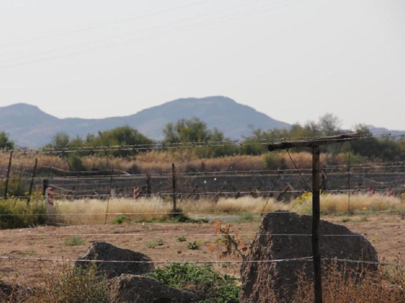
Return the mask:
[[(215, 217), (218, 213), (254, 213), (259, 215), (262, 211), (292, 210), (296, 212), (311, 211), (311, 194), (305, 193), (292, 200), (290, 203), (278, 202), (274, 198), (253, 198), (244, 196), (235, 198), (179, 200), (177, 206), (189, 216)], [(347, 211), (348, 196), (346, 194), (322, 194), (321, 210), (324, 212)], [(172, 211), (170, 199), (158, 197), (140, 198), (132, 200), (127, 198), (111, 198), (108, 202), (109, 209), (107, 222), (111, 222), (116, 213), (133, 214), (127, 215), (132, 219), (156, 219), (165, 217), (164, 213)], [(56, 216), (58, 222), (70, 225), (78, 224), (103, 224), (107, 210), (107, 200), (81, 199), (81, 200), (57, 200), (55, 203), (57, 214), (91, 214), (91, 215), (60, 215)], [(382, 194), (355, 194), (350, 197), (350, 210), (403, 210), (405, 201), (398, 197), (388, 197)], [(196, 214), (200, 213), (200, 214)], [(238, 215), (238, 214), (232, 214)], [(243, 214), (239, 214), (243, 215)]]

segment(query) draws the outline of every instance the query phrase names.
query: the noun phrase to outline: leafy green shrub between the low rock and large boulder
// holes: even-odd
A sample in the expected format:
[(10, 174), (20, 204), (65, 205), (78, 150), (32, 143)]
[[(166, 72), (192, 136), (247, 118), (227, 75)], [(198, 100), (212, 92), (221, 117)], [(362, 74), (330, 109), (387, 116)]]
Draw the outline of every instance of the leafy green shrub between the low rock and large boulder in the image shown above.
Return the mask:
[(213, 269), (211, 264), (202, 266), (171, 264), (157, 268), (146, 276), (155, 278), (163, 284), (194, 292), (205, 303), (239, 302), (241, 287), (237, 286), (237, 278), (228, 275), (222, 276)]

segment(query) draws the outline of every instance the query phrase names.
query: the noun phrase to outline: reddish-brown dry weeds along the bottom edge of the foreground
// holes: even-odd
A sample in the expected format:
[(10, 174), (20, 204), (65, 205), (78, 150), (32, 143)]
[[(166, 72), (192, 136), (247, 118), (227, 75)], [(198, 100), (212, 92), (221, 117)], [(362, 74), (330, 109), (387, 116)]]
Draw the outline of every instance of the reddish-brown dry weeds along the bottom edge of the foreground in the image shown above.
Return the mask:
[[(15, 261), (9, 261), (15, 262)], [(26, 264), (28, 275), (30, 268), (39, 268), (36, 277), (38, 286), (23, 289), (15, 282), (7, 281), (12, 290), (0, 290), (0, 302), (109, 302), (107, 280), (96, 274), (95, 268), (90, 270), (73, 269), (72, 264), (52, 263), (45, 264), (40, 261), (30, 261)], [(328, 303), (393, 303), (405, 302), (405, 271), (401, 266), (394, 266), (391, 276), (387, 276), (386, 268), (380, 267), (375, 273), (354, 271), (341, 272), (336, 265), (324, 268), (322, 278), (323, 301)], [(275, 292), (263, 289), (257, 302), (268, 303), (311, 303), (313, 302), (313, 284), (299, 272), (297, 290), (289, 299), (279, 298)], [(187, 276), (185, 276), (187, 278)], [(187, 282), (187, 281), (186, 281)], [(191, 282), (192, 283), (192, 282)], [(186, 288), (189, 284), (185, 284)], [(226, 289), (224, 288), (225, 292)], [(114, 297), (114, 296), (113, 296)], [(221, 301), (222, 302), (222, 301)], [(237, 301), (232, 301), (237, 302)]]

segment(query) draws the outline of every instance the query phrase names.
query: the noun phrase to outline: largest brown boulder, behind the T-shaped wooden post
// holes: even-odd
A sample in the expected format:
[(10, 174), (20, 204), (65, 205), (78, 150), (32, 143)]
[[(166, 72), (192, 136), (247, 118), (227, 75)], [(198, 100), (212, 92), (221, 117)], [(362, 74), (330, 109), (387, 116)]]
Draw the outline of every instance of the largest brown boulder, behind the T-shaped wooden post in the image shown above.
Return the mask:
[[(246, 261), (294, 259), (312, 257), (311, 236), (268, 236), (262, 234), (311, 234), (312, 217), (296, 213), (269, 213), (263, 218), (256, 238), (250, 245)], [(357, 235), (342, 225), (320, 221), (320, 235)], [(320, 237), (321, 257), (378, 261), (377, 252), (363, 236)], [(322, 261), (322, 264), (331, 261)], [(349, 269), (358, 269), (358, 263), (337, 263)], [(377, 265), (364, 264), (363, 269), (376, 271)], [(241, 266), (241, 303), (262, 302), (275, 292), (288, 299), (296, 290), (297, 271), (304, 270), (306, 279), (313, 278), (311, 261), (277, 263), (243, 263)]]

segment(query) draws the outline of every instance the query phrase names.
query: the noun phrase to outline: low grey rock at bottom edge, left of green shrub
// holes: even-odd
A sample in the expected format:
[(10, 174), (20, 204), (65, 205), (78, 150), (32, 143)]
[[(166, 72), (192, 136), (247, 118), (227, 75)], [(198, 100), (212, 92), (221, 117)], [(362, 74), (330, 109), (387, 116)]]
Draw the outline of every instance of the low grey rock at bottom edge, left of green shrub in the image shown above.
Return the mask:
[(108, 286), (111, 303), (189, 303), (201, 300), (192, 292), (143, 276), (125, 274), (109, 280)]

